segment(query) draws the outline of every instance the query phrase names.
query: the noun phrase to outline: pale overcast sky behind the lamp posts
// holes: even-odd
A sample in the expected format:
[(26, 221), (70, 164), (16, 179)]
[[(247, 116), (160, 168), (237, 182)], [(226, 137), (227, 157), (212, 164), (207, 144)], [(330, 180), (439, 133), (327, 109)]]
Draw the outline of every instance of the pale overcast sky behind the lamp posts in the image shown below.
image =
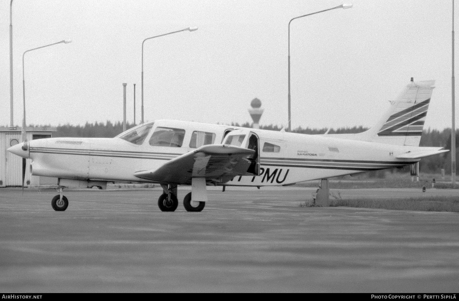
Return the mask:
[[(145, 121), (243, 123), (257, 97), (260, 124), (287, 126), (288, 22), (342, 3), (14, 0), (14, 123), (22, 123), (25, 50), (73, 40), (25, 55), (27, 124), (122, 121), (123, 82), (129, 122), (136, 84), (138, 123), (142, 41), (196, 26), (145, 42)], [(353, 8), (291, 23), (292, 127), (372, 126), (410, 77), (437, 80), (425, 128), (451, 127), (452, 1), (345, 3)], [(8, 126), (10, 1), (0, 5), (0, 126)]]

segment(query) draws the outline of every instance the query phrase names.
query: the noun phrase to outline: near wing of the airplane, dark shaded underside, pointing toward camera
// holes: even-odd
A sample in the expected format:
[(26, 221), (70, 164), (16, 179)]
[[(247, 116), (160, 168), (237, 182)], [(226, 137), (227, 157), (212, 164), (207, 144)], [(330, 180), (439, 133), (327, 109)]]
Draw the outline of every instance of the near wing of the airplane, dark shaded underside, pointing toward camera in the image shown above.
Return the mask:
[(245, 175), (254, 150), (226, 144), (204, 145), (168, 161), (157, 170), (141, 170), (134, 175), (163, 183), (191, 184), (191, 178), (225, 183), (236, 175)]

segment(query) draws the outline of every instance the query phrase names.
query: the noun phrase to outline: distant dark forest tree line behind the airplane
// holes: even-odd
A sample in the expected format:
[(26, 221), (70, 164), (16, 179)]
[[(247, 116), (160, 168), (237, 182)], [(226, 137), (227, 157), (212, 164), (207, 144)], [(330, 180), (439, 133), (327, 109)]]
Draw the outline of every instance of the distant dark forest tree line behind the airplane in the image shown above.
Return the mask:
[[(134, 124), (127, 123), (126, 128), (130, 129)], [(241, 127), (252, 127), (252, 124), (249, 122), (239, 124), (231, 123), (231, 126), (241, 126)], [(282, 127), (277, 125), (262, 125), (260, 129), (269, 130), (269, 131), (280, 131)], [(341, 127), (337, 129), (330, 129), (329, 134), (345, 134), (345, 133), (360, 133), (368, 130), (368, 128), (363, 126), (354, 126), (354, 127)], [(123, 131), (123, 123), (118, 121), (112, 123), (111, 121), (95, 122), (89, 123), (86, 122), (84, 126), (73, 126), (70, 124), (57, 126), (57, 131), (53, 133), (53, 137), (105, 137), (111, 138), (117, 136)], [(308, 135), (317, 135), (325, 134), (328, 131), (328, 128), (322, 129), (313, 129), (313, 128), (302, 128), (301, 126), (293, 129), (292, 132)], [(456, 131), (456, 149), (459, 143), (459, 131)], [(431, 147), (444, 147), (446, 149), (451, 149), (451, 129), (431, 130), (430, 128), (424, 130), (422, 133), (420, 146), (431, 146)], [(459, 159), (459, 152), (456, 151), (456, 162)], [(443, 153), (440, 155), (435, 155), (431, 157), (424, 158), (420, 161), (420, 171), (425, 173), (440, 173), (441, 169), (445, 169), (445, 172), (451, 173), (451, 152)]]

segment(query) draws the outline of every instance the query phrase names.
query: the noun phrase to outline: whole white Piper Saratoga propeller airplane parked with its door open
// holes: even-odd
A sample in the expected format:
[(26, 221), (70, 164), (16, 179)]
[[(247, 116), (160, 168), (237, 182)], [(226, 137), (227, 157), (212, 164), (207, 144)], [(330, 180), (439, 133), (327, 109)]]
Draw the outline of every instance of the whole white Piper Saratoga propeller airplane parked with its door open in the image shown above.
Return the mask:
[[(46, 138), (8, 148), (31, 159), (30, 172), (57, 178), (52, 208), (68, 206), (67, 187), (106, 189), (107, 182), (157, 183), (162, 211), (178, 207), (177, 186), (191, 185), (183, 205), (202, 211), (206, 186), (289, 186), (298, 182), (416, 164), (448, 152), (419, 147), (435, 81), (409, 82), (375, 126), (358, 134), (305, 135), (157, 120), (114, 138)], [(25, 160), (24, 160), (25, 161)], [(24, 174), (24, 171), (23, 171)]]

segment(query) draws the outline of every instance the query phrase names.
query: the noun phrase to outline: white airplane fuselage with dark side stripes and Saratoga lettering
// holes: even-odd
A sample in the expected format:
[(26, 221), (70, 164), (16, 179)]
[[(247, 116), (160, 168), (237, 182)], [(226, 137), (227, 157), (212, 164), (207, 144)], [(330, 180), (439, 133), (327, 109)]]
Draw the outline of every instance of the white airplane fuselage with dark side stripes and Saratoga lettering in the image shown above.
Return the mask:
[[(182, 147), (151, 146), (149, 137), (156, 127), (185, 130)], [(258, 137), (260, 175), (236, 176), (221, 185), (289, 185), (413, 164), (419, 159), (396, 159), (399, 153), (417, 147), (397, 146), (304, 135), (278, 131), (242, 129), (232, 126), (159, 120), (145, 141), (136, 145), (122, 138), (47, 138), (29, 142), (32, 175), (81, 181), (151, 182), (134, 175), (139, 170), (157, 170), (165, 162), (188, 153), (193, 131), (215, 133), (214, 143), (222, 142), (225, 131), (252, 132)], [(263, 145), (275, 148), (264, 148)], [(180, 183), (179, 183), (180, 184)]]

